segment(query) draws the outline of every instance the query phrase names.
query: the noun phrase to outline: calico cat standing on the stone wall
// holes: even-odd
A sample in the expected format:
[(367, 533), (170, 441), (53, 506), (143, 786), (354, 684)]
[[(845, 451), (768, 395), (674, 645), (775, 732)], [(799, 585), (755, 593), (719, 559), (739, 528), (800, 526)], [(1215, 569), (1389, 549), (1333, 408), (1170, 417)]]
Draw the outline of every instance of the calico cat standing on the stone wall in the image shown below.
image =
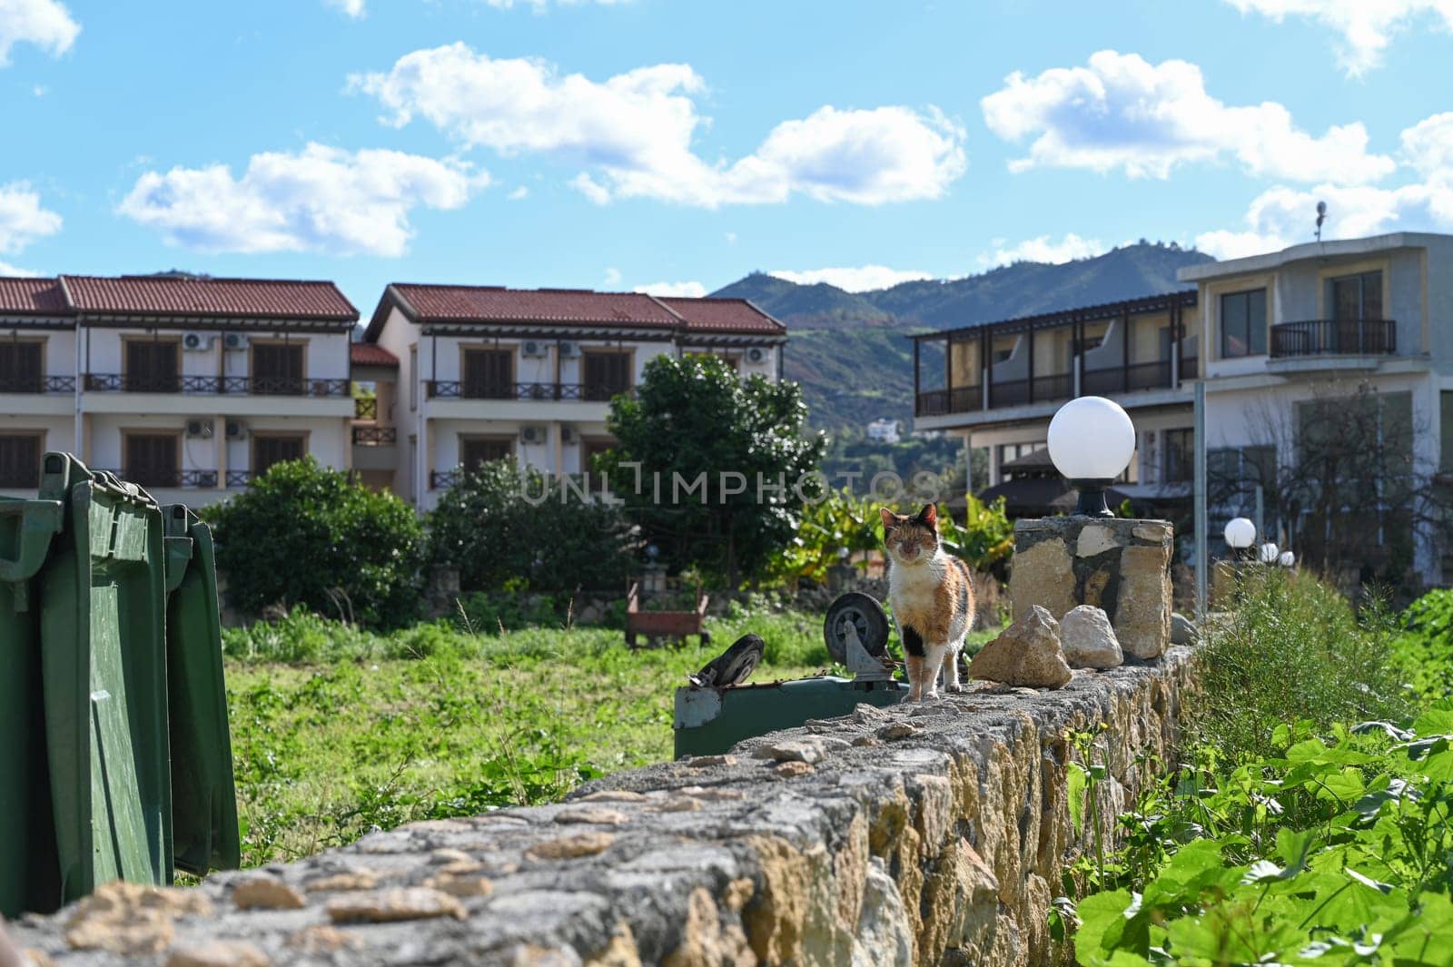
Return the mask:
[(962, 691), (959, 652), (974, 627), (969, 566), (939, 546), (939, 511), (933, 504), (914, 517), (886, 507), (881, 513), (889, 560), (888, 603), (908, 661), (908, 701), (939, 694), (940, 666), (944, 691)]

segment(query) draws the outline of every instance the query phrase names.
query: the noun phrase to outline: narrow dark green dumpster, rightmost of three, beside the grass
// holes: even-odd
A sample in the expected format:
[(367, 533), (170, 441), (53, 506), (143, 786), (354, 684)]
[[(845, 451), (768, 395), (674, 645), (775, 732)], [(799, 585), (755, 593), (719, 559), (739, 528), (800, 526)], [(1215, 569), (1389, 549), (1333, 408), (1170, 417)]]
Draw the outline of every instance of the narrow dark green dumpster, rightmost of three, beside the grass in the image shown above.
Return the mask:
[(167, 706), (176, 865), (203, 874), (241, 864), (232, 745), (222, 684), (212, 531), (182, 504), (161, 508), (167, 552)]

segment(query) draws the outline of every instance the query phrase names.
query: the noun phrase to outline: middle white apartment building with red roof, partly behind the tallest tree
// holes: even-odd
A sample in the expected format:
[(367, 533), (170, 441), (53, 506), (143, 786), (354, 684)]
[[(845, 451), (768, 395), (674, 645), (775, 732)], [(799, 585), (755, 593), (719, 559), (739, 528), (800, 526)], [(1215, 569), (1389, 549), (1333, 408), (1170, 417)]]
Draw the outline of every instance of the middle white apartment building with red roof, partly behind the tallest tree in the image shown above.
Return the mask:
[(744, 299), (394, 283), (360, 351), (376, 353), (371, 431), (398, 452), (389, 486), (427, 510), (461, 468), (487, 460), (588, 470), (612, 443), (610, 398), (658, 356), (711, 353), (779, 379), (785, 343), (786, 327)]

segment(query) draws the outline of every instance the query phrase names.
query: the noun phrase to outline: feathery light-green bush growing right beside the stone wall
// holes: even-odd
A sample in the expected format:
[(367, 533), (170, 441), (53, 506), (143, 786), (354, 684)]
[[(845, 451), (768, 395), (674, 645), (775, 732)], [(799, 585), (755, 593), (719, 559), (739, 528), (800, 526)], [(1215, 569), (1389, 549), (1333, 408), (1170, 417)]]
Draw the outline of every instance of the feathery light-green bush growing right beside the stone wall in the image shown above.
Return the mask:
[(1361, 620), (1334, 588), (1280, 568), (1242, 572), (1234, 610), (1197, 650), (1199, 738), (1229, 761), (1274, 752), (1273, 732), (1306, 719), (1386, 719), (1405, 704), (1386, 616)]

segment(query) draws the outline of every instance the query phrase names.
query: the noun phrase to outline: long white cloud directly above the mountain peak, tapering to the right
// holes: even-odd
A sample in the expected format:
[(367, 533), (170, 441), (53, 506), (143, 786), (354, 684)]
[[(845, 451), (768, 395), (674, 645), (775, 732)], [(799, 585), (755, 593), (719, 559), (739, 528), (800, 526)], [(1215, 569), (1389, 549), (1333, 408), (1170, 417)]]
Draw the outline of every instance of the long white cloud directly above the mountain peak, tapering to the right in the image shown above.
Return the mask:
[(1395, 167), (1392, 158), (1367, 152), (1361, 122), (1312, 136), (1276, 102), (1216, 100), (1200, 68), (1178, 60), (1151, 64), (1136, 54), (1098, 51), (1087, 67), (1056, 67), (1037, 77), (1016, 71), (979, 103), (998, 136), (1033, 138), (1029, 155), (1010, 163), (1013, 171), (1119, 168), (1164, 179), (1177, 166), (1229, 157), (1255, 177), (1360, 184)]

